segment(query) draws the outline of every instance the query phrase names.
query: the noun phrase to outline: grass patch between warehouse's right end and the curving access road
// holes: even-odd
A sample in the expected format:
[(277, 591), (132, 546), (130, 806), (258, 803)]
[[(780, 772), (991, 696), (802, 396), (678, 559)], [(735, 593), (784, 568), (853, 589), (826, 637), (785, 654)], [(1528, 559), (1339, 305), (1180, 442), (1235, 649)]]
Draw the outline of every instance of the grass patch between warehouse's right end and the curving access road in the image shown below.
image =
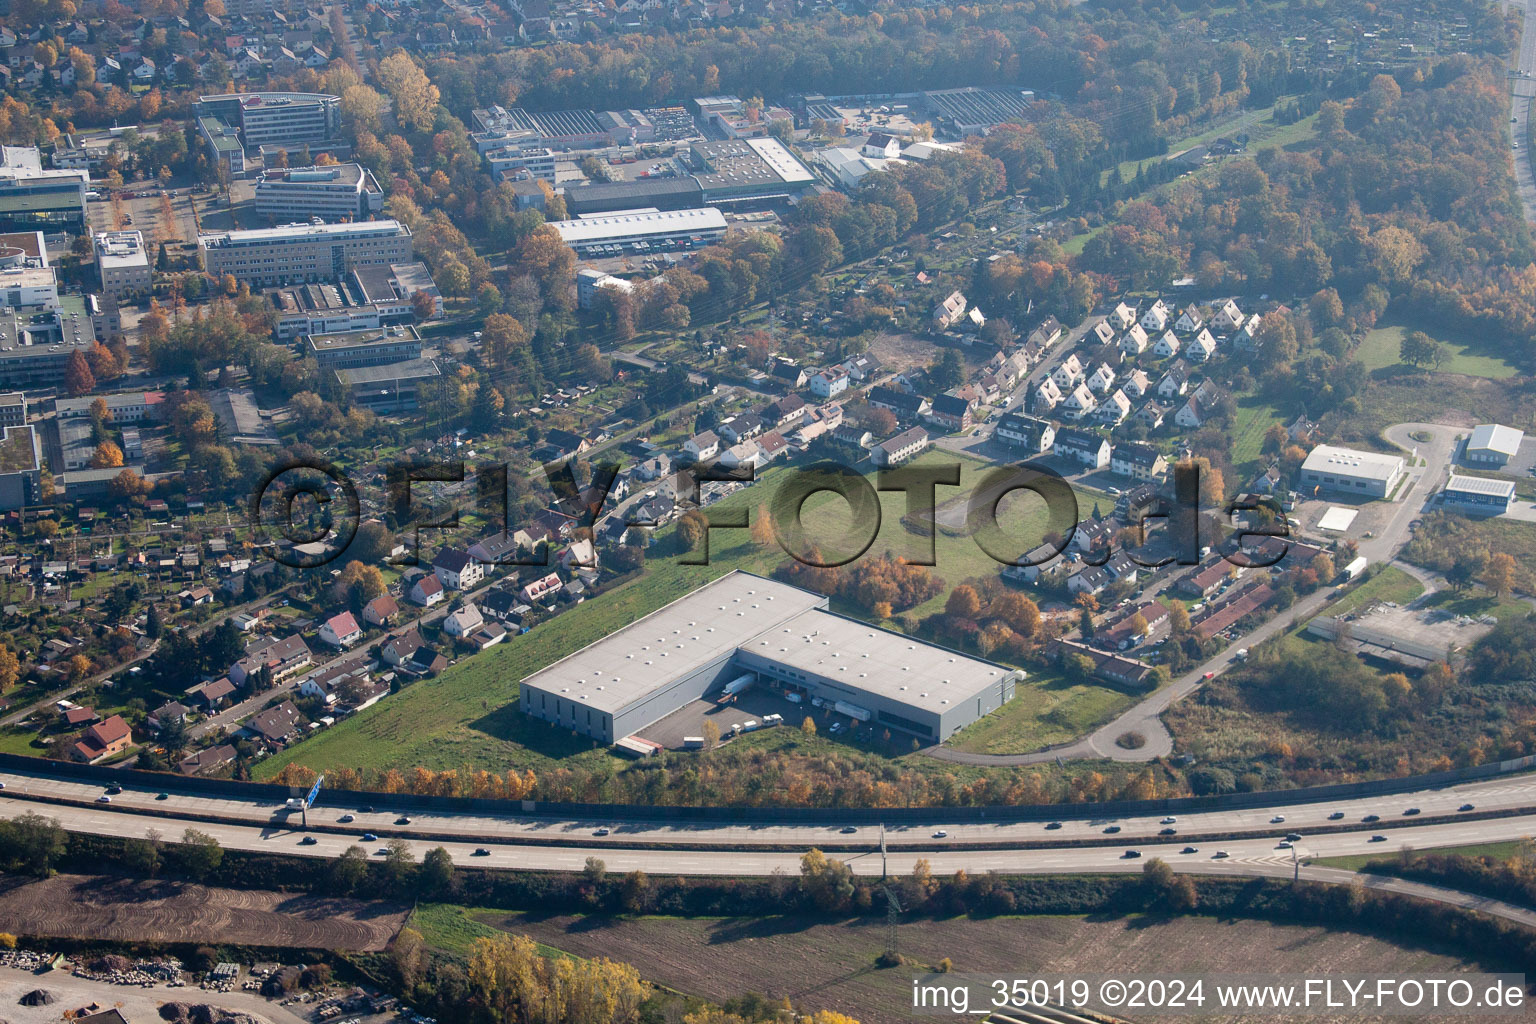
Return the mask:
[(949, 746), (977, 754), (1029, 754), (1075, 740), (1132, 703), (1135, 697), (1109, 686), (1054, 672), (1031, 674), (1014, 700), (957, 732)]

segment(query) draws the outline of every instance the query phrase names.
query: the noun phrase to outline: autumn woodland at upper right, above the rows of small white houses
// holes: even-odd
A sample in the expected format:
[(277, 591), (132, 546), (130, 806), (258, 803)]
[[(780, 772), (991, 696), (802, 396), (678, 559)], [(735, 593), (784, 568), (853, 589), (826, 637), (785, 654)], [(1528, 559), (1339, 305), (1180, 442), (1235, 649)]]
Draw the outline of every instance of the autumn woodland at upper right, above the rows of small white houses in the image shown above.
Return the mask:
[(1130, 203), (1083, 266), (1163, 287), (1193, 269), (1210, 290), (1333, 289), (1347, 325), (1387, 302), (1501, 336), (1536, 329), (1536, 267), (1511, 201), (1504, 69), (1467, 55), (1376, 75), (1318, 109), (1318, 146), (1267, 147)]

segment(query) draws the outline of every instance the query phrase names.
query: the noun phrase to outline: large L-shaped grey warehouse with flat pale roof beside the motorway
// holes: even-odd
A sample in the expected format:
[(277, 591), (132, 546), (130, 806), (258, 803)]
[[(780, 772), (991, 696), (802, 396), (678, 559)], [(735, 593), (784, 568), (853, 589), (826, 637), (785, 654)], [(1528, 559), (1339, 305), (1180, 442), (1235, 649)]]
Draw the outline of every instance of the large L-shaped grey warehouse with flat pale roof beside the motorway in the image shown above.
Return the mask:
[(753, 674), (934, 743), (1012, 700), (1025, 677), (826, 608), (734, 571), (528, 676), (521, 706), (613, 743)]

